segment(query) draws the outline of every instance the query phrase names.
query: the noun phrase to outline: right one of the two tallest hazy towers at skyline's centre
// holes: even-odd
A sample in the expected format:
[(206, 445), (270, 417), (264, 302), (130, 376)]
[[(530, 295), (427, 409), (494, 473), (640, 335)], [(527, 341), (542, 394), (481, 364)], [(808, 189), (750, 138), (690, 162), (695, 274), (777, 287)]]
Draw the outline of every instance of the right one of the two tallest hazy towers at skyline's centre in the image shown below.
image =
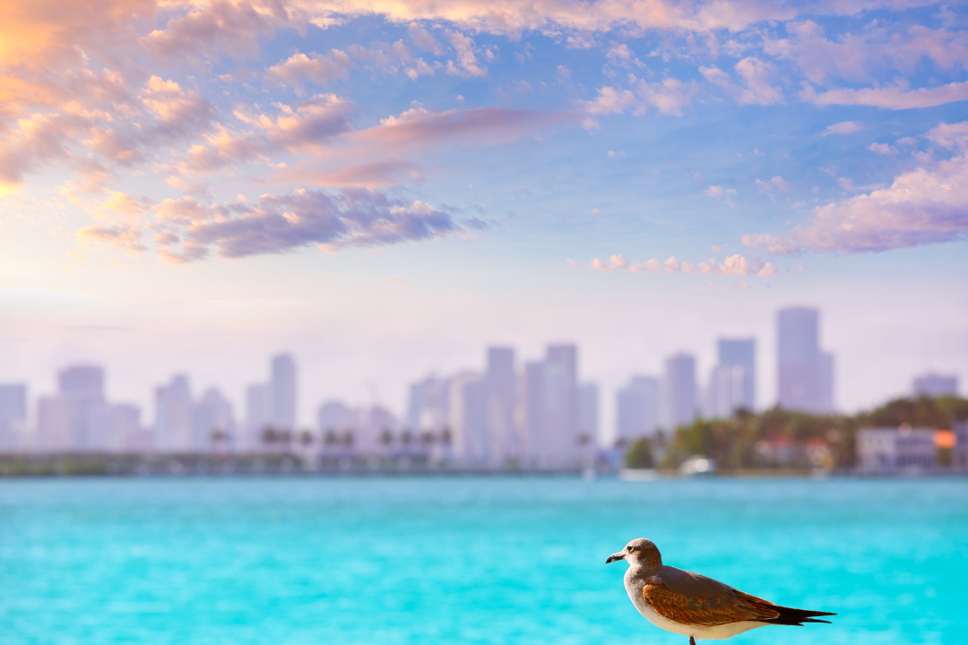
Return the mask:
[(545, 357), (545, 434), (541, 453), (553, 467), (571, 467), (581, 459), (578, 432), (578, 349), (550, 345)]

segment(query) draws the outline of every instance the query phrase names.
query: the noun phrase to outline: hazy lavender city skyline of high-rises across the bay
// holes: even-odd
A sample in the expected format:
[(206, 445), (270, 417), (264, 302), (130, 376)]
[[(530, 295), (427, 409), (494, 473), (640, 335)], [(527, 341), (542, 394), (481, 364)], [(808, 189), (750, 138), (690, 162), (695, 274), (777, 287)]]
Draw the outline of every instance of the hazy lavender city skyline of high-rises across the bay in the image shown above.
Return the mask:
[[(787, 397), (782, 405), (787, 409), (832, 412), (834, 359), (820, 350), (820, 312), (785, 308), (776, 313), (775, 320), (776, 402)], [(759, 408), (750, 405), (756, 400), (755, 385), (760, 380), (755, 366), (757, 339), (719, 337), (716, 346), (717, 363), (708, 380), (697, 372), (695, 357), (682, 352), (667, 356), (658, 376), (632, 374), (614, 391), (614, 418), (606, 421), (600, 414), (607, 407), (601, 401), (603, 390), (579, 373), (578, 348), (568, 344), (547, 345), (544, 358), (538, 361), (519, 359), (514, 347), (489, 346), (482, 369), (464, 366), (449, 375), (411, 378), (405, 406), (387, 408), (374, 401), (360, 407), (323, 395), (316, 397), (316, 413), (298, 422), (299, 367), (290, 354), (271, 357), (269, 380), (248, 385), (245, 405), (234, 407), (235, 411), (230, 397), (217, 387), (196, 390), (199, 394), (195, 396), (190, 378), (175, 374), (167, 385), (156, 388), (150, 421), (141, 421), (141, 409), (130, 402), (108, 403), (102, 366), (68, 366), (57, 374), (56, 395), (36, 397), (39, 416), (32, 421), (39, 429), (47, 428), (38, 435), (42, 438), (36, 445), (45, 450), (109, 449), (124, 441), (119, 433), (133, 433), (135, 438), (129, 443), (136, 446), (145, 441), (142, 427), (152, 428), (154, 447), (166, 452), (210, 450), (214, 428), (224, 433), (235, 450), (251, 450), (261, 446), (262, 430), (267, 426), (292, 432), (311, 428), (319, 433), (341, 425), (370, 428), (366, 432), (373, 436), (366, 441), (374, 446), (381, 429), (410, 428), (419, 433), (449, 427), (454, 454), (468, 462), (493, 465), (512, 458), (563, 463), (574, 459), (568, 452), (571, 449), (556, 453), (560, 449), (554, 446), (578, 446), (587, 441), (582, 437), (609, 446), (615, 440), (627, 443), (660, 427), (688, 424), (698, 417), (729, 417), (741, 407), (769, 407), (770, 403)], [(913, 377), (910, 393), (955, 394), (957, 384), (956, 375), (930, 371)], [(0, 416), (4, 419), (0, 422), (29, 409), (26, 392), (22, 385), (2, 384)], [(613, 394), (604, 392), (606, 397)], [(313, 422), (318, 422), (315, 427)], [(108, 430), (108, 426), (128, 429)], [(534, 446), (545, 446), (551, 452), (540, 456), (533, 452)]]

